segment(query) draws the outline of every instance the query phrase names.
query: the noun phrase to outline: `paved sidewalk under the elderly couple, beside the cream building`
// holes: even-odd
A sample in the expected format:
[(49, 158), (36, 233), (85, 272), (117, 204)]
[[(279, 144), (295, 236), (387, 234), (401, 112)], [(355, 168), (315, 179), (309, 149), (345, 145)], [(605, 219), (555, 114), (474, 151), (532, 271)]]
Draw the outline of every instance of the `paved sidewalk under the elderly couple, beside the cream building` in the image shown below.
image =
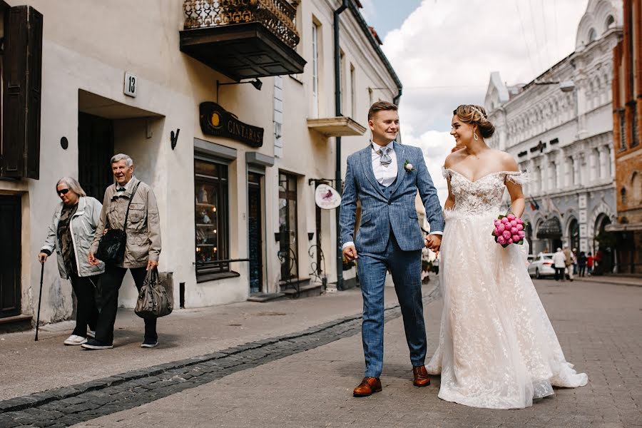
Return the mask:
[[(435, 279), (424, 292), (436, 284)], [(396, 304), (394, 288), (386, 287), (385, 299), (387, 305)], [(33, 331), (0, 335), (0, 400), (299, 332), (361, 309), (361, 290), (356, 288), (297, 300), (175, 310), (158, 320), (160, 345), (153, 349), (141, 349), (143, 320), (122, 308), (116, 318), (113, 350), (64, 346), (73, 322), (47, 326), (51, 332), (41, 327), (38, 342)]]

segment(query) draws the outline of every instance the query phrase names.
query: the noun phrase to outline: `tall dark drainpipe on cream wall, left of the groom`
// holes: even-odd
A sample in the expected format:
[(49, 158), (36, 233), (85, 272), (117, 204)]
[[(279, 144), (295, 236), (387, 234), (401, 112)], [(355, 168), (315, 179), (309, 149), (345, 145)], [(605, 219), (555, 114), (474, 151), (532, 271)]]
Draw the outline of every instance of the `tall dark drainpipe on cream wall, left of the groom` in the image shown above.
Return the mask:
[[(343, 116), (341, 113), (341, 54), (339, 46), (339, 15), (348, 7), (350, 0), (342, 0), (341, 6), (335, 10), (333, 14), (333, 30), (335, 36), (335, 116)], [(335, 158), (335, 184), (337, 192), (342, 193), (342, 180), (341, 180), (341, 137), (335, 137), (337, 143), (336, 158)], [(343, 290), (343, 249), (341, 248), (341, 228), (339, 225), (339, 218), (341, 214), (341, 207), (335, 210), (336, 223), (337, 223), (337, 290)]]

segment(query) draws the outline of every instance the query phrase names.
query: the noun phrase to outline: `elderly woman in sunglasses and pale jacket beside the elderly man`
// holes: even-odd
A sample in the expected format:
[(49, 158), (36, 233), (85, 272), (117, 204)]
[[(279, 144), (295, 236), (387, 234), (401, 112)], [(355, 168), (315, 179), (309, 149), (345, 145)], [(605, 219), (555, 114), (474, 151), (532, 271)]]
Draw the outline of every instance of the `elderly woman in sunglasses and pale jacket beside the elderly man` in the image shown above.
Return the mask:
[(105, 264), (91, 265), (87, 255), (103, 205), (88, 197), (75, 178), (63, 177), (58, 180), (56, 193), (61, 203), (54, 211), (54, 219), (49, 225), (49, 233), (38, 259), (40, 263), (45, 263), (54, 250), (58, 253), (60, 276), (71, 281), (78, 301), (76, 328), (64, 344), (82, 345), (87, 342), (87, 336), (93, 337), (98, 320), (96, 275), (105, 272)]

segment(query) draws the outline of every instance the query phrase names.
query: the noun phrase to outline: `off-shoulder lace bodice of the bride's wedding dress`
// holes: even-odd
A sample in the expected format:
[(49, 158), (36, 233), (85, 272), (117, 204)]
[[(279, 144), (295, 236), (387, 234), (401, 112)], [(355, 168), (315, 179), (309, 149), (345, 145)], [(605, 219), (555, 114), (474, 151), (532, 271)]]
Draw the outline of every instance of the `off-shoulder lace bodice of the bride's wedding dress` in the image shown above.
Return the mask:
[(442, 173), (450, 180), (450, 189), (455, 197), (452, 210), (472, 215), (497, 213), (506, 180), (518, 184), (524, 184), (527, 180), (526, 174), (519, 171), (498, 171), (474, 181), (449, 168), (442, 168)]

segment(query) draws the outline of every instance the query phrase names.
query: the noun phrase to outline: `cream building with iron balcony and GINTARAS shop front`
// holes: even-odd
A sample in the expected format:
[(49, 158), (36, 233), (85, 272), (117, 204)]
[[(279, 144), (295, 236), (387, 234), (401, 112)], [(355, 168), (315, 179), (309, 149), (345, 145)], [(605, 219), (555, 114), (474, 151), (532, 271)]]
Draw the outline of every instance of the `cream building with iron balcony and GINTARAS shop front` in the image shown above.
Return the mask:
[[(19, 93), (39, 117), (2, 133), (0, 239), (16, 260), (0, 265), (0, 319), (35, 319), (36, 257), (58, 178), (77, 177), (102, 200), (115, 153), (133, 158), (158, 199), (159, 270), (176, 307), (337, 282), (335, 210), (317, 208), (315, 185), (337, 186), (336, 138), (345, 165), (369, 141), (370, 104), (394, 101), (401, 83), (358, 2), (337, 14), (338, 96), (342, 1), (233, 3), (138, 0), (125, 10), (116, 0), (0, 0), (2, 18), (11, 16), (5, 46), (16, 48), (2, 60), (3, 111), (14, 111), (7, 84), (19, 79), (9, 61), (41, 58), (26, 62), (24, 87), (36, 96)], [(354, 282), (346, 270), (345, 285)], [(71, 285), (46, 263), (41, 321), (68, 318), (71, 301)], [(120, 304), (135, 302), (127, 275)]]

